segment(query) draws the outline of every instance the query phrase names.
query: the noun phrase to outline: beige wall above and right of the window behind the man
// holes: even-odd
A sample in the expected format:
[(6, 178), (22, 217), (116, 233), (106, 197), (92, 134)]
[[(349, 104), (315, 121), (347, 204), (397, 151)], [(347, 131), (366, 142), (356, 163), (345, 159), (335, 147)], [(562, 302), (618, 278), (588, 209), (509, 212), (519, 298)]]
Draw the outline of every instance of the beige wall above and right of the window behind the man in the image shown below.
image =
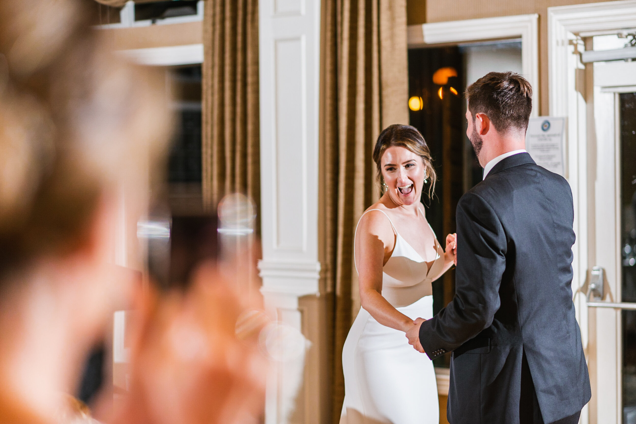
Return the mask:
[(548, 110), (548, 8), (599, 0), (407, 0), (408, 24), (539, 14), (539, 115)]

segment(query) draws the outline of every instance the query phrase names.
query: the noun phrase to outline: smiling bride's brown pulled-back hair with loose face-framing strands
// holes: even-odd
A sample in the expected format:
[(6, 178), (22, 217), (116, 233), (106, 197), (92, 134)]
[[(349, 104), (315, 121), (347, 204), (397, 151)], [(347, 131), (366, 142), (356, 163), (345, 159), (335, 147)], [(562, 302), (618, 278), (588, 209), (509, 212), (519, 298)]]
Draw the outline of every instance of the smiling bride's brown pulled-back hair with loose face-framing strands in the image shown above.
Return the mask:
[(435, 183), (437, 182), (437, 174), (432, 164), (431, 150), (429, 150), (429, 146), (424, 141), (424, 136), (422, 136), (420, 131), (410, 125), (389, 125), (378, 136), (375, 149), (373, 149), (373, 161), (375, 161), (378, 169), (376, 178), (380, 185), (380, 191), (384, 193), (384, 187), (382, 187), (382, 183), (384, 183), (384, 178), (382, 177), (382, 155), (392, 146), (404, 147), (404, 149), (408, 149), (422, 158), (429, 182), (428, 195), (429, 199), (431, 199), (435, 191)]

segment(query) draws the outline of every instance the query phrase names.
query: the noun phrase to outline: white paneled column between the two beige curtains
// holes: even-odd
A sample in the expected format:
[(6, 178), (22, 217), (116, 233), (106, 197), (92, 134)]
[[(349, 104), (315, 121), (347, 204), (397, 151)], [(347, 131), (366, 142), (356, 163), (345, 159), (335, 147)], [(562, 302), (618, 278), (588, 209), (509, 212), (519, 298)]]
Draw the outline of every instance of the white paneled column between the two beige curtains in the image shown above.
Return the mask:
[[(298, 298), (318, 294), (319, 0), (259, 0), (261, 291), (300, 331)], [(290, 364), (291, 365), (291, 364)], [(292, 367), (293, 368), (293, 367)], [(268, 381), (266, 424), (286, 423), (296, 385)]]

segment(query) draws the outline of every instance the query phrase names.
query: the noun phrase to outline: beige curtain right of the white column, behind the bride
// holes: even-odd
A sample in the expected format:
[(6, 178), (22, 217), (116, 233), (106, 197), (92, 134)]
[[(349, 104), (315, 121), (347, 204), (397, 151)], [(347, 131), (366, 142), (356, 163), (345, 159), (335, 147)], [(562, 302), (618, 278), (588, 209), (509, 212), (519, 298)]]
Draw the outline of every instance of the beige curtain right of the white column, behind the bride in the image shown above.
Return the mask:
[(359, 308), (354, 229), (379, 194), (373, 146), (386, 126), (408, 124), (406, 0), (323, 0), (321, 13), (323, 255), (338, 423), (342, 346)]

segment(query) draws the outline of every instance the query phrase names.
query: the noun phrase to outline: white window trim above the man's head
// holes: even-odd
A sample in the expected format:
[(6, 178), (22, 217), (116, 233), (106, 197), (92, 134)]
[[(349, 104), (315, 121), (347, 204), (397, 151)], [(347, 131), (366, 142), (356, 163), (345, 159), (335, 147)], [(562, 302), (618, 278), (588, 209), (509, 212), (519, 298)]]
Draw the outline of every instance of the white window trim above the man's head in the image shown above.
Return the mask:
[(532, 84), (532, 116), (539, 105), (539, 15), (467, 19), (410, 25), (410, 48), (431, 44), (459, 44), (471, 41), (521, 37), (523, 76)]

